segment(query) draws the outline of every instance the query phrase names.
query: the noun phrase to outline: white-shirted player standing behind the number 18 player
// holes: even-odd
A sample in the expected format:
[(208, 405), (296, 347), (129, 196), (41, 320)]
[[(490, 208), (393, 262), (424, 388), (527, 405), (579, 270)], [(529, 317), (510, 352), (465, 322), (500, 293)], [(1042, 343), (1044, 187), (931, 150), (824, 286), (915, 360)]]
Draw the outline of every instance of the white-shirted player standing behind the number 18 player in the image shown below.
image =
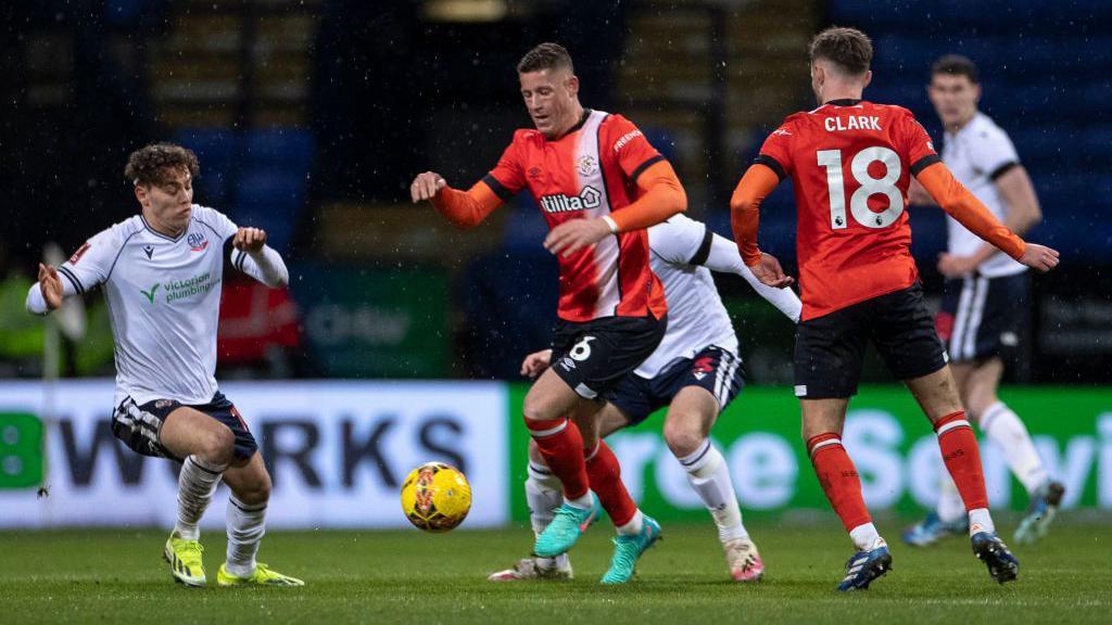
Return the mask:
[[(929, 96), (945, 127), (942, 160), (954, 177), (1017, 235), (1039, 224), (1042, 212), (1031, 178), (1015, 147), (993, 120), (977, 110), (976, 66), (949, 54), (931, 68)], [(933, 204), (913, 182), (911, 199)], [(1045, 535), (1065, 487), (1051, 478), (1023, 421), (1000, 400), (1004, 359), (1025, 334), (1031, 316), (1026, 267), (947, 218), (949, 249), (939, 259), (946, 277), (942, 310), (935, 318), (946, 343), (951, 369), (965, 405), (1030, 496), (1027, 514), (1015, 530), (1017, 543)], [(926, 546), (967, 533), (967, 518), (953, 480), (943, 477), (937, 508), (904, 533), (904, 542)]]

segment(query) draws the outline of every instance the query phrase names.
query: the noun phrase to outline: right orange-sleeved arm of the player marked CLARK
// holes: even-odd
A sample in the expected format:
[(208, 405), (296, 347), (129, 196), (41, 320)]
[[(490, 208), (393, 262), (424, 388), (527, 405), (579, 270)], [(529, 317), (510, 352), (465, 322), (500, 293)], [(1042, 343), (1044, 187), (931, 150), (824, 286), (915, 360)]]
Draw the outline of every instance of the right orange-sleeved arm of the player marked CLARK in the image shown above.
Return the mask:
[(945, 165), (941, 162), (931, 165), (920, 171), (916, 178), (943, 210), (1007, 256), (1043, 272), (1058, 266), (1056, 250), (1036, 244), (1025, 244), (1001, 224), (981, 200), (976, 199), (976, 196), (962, 186)]

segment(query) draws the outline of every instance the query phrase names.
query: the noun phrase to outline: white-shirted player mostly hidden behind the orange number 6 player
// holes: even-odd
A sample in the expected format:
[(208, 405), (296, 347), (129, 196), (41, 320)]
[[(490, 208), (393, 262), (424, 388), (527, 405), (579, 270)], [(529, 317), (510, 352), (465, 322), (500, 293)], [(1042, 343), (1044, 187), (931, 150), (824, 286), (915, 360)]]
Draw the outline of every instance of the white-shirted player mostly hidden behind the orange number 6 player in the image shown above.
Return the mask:
[[(668, 329), (659, 347), (607, 395), (598, 431), (583, 429), (584, 453), (589, 458), (599, 436), (637, 425), (667, 407), (664, 439), (718, 527), (731, 576), (737, 582), (754, 582), (764, 574), (764, 563), (742, 524), (726, 460), (709, 439), (718, 414), (744, 384), (737, 335), (711, 271), (744, 277), (793, 323), (800, 318), (802, 304), (790, 288), (761, 284), (742, 262), (733, 241), (683, 215), (649, 228), (648, 240), (653, 271), (664, 284), (668, 302)], [(522, 364), (522, 375), (536, 377), (552, 364), (550, 359), (550, 349), (529, 354)], [(532, 444), (525, 493), (533, 530), (540, 533), (563, 499), (559, 480)], [(563, 554), (555, 558), (524, 558), (513, 568), (492, 574), (489, 579), (569, 577), (572, 564)]]

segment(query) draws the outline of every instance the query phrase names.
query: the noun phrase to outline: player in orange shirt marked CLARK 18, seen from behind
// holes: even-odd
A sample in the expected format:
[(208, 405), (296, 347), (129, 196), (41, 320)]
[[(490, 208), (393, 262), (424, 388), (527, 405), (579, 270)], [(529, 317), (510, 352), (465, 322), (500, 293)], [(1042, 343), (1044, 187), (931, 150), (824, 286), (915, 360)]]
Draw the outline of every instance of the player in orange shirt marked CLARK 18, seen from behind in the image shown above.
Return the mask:
[(910, 111), (862, 100), (872, 56), (872, 42), (858, 30), (830, 28), (814, 38), (811, 77), (821, 106), (790, 116), (765, 141), (731, 201), (734, 235), (762, 281), (790, 280), (780, 262), (757, 248), (756, 232), (761, 200), (791, 177), (803, 299), (795, 394), (815, 473), (856, 547), (837, 588), (866, 588), (892, 564), (841, 440), (866, 343), (934, 425), (969, 513), (973, 550), (1003, 583), (1015, 578), (1019, 563), (996, 536), (976, 438), (923, 305), (904, 211), (911, 177), (947, 214), (1012, 258), (1048, 270), (1058, 264), (1058, 252), (1024, 244), (1000, 224), (953, 178)]

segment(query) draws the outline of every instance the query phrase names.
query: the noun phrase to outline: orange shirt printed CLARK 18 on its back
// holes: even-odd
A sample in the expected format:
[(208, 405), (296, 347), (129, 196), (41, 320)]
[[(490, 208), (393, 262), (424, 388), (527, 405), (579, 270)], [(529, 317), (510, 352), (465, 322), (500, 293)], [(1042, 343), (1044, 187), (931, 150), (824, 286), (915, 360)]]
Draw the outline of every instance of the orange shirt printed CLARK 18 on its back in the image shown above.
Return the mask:
[(804, 319), (915, 282), (907, 188), (939, 160), (911, 111), (866, 101), (792, 115), (768, 136), (756, 162), (795, 188)]

